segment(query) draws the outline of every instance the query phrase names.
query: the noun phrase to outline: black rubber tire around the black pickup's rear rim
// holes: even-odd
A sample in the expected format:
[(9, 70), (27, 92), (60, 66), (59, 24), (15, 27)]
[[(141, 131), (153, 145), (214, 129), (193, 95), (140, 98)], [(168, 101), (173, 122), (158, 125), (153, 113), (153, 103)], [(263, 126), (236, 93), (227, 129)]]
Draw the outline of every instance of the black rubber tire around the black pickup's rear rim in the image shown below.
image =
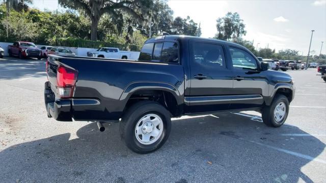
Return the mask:
[[(152, 144), (140, 143), (135, 136), (138, 121), (148, 115), (155, 114), (163, 122), (164, 128), (160, 137)], [(120, 122), (120, 137), (126, 146), (137, 153), (145, 154), (159, 149), (168, 139), (171, 132), (171, 114), (163, 106), (153, 101), (140, 101), (133, 104), (124, 113)]]

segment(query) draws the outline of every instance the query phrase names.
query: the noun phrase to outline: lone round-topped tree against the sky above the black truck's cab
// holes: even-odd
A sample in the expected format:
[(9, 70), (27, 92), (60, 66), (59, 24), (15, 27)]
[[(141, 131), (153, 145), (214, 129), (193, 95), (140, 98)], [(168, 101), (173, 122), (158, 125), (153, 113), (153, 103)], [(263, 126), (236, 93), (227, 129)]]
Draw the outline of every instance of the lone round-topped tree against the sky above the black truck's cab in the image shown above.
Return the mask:
[(228, 12), (224, 17), (216, 19), (218, 33), (214, 38), (227, 41), (232, 39), (236, 42), (242, 35), (246, 35), (245, 27), (246, 25), (238, 13)]

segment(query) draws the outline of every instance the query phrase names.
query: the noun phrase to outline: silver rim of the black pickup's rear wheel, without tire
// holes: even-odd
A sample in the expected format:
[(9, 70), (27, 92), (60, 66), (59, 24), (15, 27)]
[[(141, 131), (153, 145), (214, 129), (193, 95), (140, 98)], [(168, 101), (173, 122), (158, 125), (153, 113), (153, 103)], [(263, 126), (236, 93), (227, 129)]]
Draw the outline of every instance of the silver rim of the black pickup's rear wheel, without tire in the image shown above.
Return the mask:
[(134, 135), (139, 143), (150, 145), (161, 137), (163, 129), (163, 121), (158, 115), (147, 114), (137, 122)]

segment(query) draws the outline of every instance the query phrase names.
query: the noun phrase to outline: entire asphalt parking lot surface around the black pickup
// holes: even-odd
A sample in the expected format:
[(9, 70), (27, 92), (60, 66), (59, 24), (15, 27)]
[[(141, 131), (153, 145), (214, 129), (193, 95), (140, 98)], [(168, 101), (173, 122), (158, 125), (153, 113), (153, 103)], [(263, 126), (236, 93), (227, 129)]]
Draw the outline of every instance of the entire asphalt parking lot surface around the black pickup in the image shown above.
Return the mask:
[(0, 59), (0, 182), (326, 182), (326, 83), (288, 70), (296, 85), (286, 124), (259, 113), (173, 119), (169, 140), (136, 154), (118, 123), (47, 118), (44, 60)]

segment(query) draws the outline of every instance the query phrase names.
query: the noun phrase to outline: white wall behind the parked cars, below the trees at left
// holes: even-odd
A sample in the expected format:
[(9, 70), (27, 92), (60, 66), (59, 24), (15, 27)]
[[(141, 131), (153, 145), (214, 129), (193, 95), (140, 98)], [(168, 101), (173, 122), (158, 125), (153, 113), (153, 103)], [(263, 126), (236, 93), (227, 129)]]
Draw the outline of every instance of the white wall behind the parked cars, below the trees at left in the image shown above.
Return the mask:
[[(0, 42), (0, 46), (5, 50), (5, 56), (8, 56), (8, 45), (12, 45), (12, 43), (6, 43), (6, 42)], [(46, 45), (37, 45), (37, 47), (42, 47)], [(87, 57), (87, 51), (95, 51), (94, 48), (85, 48), (85, 47), (67, 47), (71, 49), (73, 53), (75, 53), (77, 56), (81, 57)], [(124, 51), (127, 53), (130, 53), (130, 60), (138, 60), (139, 58), (139, 51)]]

